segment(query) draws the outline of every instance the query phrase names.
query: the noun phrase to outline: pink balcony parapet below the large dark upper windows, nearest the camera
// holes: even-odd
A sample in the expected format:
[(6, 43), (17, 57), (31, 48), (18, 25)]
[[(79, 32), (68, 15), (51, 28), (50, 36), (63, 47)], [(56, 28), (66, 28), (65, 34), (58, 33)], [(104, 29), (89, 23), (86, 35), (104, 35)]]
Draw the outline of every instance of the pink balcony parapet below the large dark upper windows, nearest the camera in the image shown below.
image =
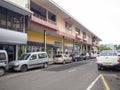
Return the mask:
[(38, 23), (40, 25), (46, 26), (48, 28), (51, 28), (53, 30), (58, 30), (59, 28), (56, 26), (55, 22), (51, 22), (50, 20), (47, 21), (46, 18), (40, 17), (40, 16), (36, 16), (36, 15), (32, 15), (31, 16), (31, 21)]

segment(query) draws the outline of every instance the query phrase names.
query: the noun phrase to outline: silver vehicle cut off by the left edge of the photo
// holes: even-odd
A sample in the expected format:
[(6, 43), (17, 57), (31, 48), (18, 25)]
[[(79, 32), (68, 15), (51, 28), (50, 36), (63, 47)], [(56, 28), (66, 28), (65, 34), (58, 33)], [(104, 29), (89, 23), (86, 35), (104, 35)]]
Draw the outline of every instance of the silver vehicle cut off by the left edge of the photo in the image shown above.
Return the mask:
[(8, 64), (8, 54), (5, 50), (0, 50), (0, 76), (5, 75)]

